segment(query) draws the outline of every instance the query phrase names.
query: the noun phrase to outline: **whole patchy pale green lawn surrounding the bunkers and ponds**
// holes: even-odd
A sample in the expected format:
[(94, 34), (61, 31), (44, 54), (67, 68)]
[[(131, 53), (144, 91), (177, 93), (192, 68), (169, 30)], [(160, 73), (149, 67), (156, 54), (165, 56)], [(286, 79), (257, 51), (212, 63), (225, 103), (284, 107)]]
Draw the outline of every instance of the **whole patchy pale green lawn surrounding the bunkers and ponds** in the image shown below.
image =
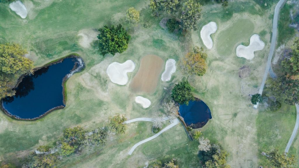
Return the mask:
[[(116, 114), (125, 114), (128, 120), (152, 117), (155, 112), (161, 112), (161, 103), (170, 97), (174, 84), (182, 79), (189, 80), (195, 88), (194, 97), (203, 100), (212, 113), (212, 119), (198, 130), (228, 151), (227, 161), (231, 167), (253, 168), (267, 164), (260, 153), (273, 147), (284, 150), (295, 124), (295, 107), (283, 104), (278, 112), (269, 112), (254, 109), (250, 102), (250, 95), (259, 90), (269, 54), (276, 1), (266, 2), (268, 7), (252, 0), (234, 0), (225, 8), (207, 2), (202, 6), (198, 29), (186, 36), (161, 28), (159, 22), (163, 17), (151, 15), (149, 1), (25, 0), (26, 19), (11, 11), (8, 4), (0, 3), (0, 42), (16, 42), (24, 46), (29, 51), (26, 57), (32, 59), (36, 67), (72, 53), (80, 55), (86, 66), (67, 80), (64, 109), (36, 121), (14, 120), (0, 112), (0, 164), (3, 161), (21, 166), (38, 146), (55, 146), (65, 128), (82, 126), (91, 131), (106, 126), (108, 118)], [(129, 7), (140, 10), (141, 22), (135, 28), (128, 28), (131, 40), (126, 51), (115, 56), (102, 56), (93, 43), (80, 44), (80, 33), (94, 36), (103, 25), (123, 24)], [(149, 25), (147, 28), (143, 26), (145, 22)], [(211, 36), (213, 48), (207, 50), (201, 41), (200, 30), (209, 22), (216, 22), (218, 29)], [(252, 60), (237, 57), (237, 46), (249, 45), (254, 33), (261, 36), (264, 49), (256, 51)], [(190, 75), (187, 78), (181, 74), (178, 61), (194, 46), (205, 49), (208, 68), (202, 77)], [(157, 70), (160, 73), (157, 87), (148, 93), (138, 90), (137, 94), (130, 84), (138, 72), (141, 58), (147, 55), (159, 56), (160, 62), (164, 62), (163, 68), (161, 72)], [(162, 82), (165, 62), (170, 58), (176, 60), (177, 71), (169, 82)], [(106, 74), (108, 65), (129, 59), (136, 68), (128, 73), (128, 83), (112, 83)], [(244, 65), (250, 67), (251, 73), (241, 79), (238, 70)], [(142, 108), (135, 103), (136, 96), (146, 97), (151, 106)], [(128, 155), (135, 143), (153, 135), (151, 122), (130, 123), (125, 134), (111, 136), (106, 146), (84, 149), (80, 154), (64, 157), (58, 167), (142, 168), (151, 161), (171, 158), (178, 159), (180, 168), (199, 167), (199, 143), (187, 137), (181, 123)], [(298, 146), (296, 138), (290, 152), (298, 155)]]

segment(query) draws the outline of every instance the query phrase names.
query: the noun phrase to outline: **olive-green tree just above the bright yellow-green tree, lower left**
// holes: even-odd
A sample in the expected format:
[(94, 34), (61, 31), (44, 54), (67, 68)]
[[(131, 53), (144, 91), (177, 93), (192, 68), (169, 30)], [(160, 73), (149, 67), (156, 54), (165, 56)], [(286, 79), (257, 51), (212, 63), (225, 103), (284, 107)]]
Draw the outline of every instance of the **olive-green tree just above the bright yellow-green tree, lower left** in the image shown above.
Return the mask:
[(76, 145), (84, 143), (85, 134), (86, 132), (80, 126), (67, 128), (63, 131), (63, 137), (65, 138), (65, 141)]

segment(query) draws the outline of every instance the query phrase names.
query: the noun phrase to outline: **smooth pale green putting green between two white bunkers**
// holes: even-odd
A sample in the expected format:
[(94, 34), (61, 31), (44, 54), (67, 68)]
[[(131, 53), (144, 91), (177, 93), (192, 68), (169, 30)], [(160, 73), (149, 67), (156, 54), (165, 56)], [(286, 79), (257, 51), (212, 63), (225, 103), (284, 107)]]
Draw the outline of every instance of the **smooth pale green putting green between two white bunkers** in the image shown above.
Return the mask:
[(220, 56), (229, 56), (236, 51), (234, 46), (247, 42), (254, 30), (254, 24), (248, 19), (238, 19), (231, 26), (219, 33), (216, 50)]

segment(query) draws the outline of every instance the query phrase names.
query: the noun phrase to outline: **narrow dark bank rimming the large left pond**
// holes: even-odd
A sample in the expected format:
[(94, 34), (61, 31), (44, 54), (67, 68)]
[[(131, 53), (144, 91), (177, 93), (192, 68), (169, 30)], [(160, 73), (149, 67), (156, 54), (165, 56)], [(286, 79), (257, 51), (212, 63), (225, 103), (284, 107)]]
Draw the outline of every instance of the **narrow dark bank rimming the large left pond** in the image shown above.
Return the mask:
[[(74, 67), (70, 70), (70, 73), (71, 73), (72, 71), (75, 71), (77, 68), (80, 67), (80, 65), (78, 65), (78, 63), (80, 62), (79, 59), (82, 60), (82, 67), (80, 67), (80, 68), (78, 69), (77, 72), (83, 71), (83, 70), (85, 69), (84, 61), (83, 61), (83, 59), (82, 59), (78, 54), (69, 54), (69, 55), (67, 55), (67, 56), (65, 56), (65, 57), (62, 57), (62, 58), (60, 58), (60, 59), (56, 59), (56, 60), (54, 60), (54, 61), (51, 61), (51, 62), (49, 62), (49, 63), (47, 63), (47, 64), (45, 64), (45, 65), (43, 65), (43, 66), (41, 66), (41, 67), (34, 68), (34, 69), (33, 69), (33, 73), (34, 73), (35, 71), (41, 69), (41, 68), (45, 68), (45, 67), (49, 67), (49, 66), (54, 65), (54, 64), (58, 64), (58, 63), (62, 62), (64, 59), (66, 59), (66, 58), (76, 58), (76, 59), (77, 59), (77, 62), (75, 62)], [(74, 72), (74, 73), (77, 73), (77, 72)], [(27, 76), (27, 75), (30, 75), (30, 73), (23, 74), (21, 77), (19, 77), (19, 79), (18, 79), (18, 81), (17, 81), (17, 83), (16, 83), (16, 85), (15, 85), (15, 87), (14, 87), (13, 89), (17, 88), (18, 85), (22, 82), (23, 78), (24, 78), (25, 76)], [(51, 112), (53, 112), (53, 111), (55, 111), (55, 110), (63, 109), (63, 108), (65, 108), (66, 99), (67, 99), (67, 98), (66, 98), (66, 94), (67, 94), (67, 93), (66, 93), (65, 83), (66, 83), (66, 81), (67, 81), (68, 79), (69, 79), (68, 74), (66, 74), (65, 77), (64, 77), (63, 80), (62, 80), (62, 97), (63, 97), (63, 101), (62, 101), (62, 103), (64, 104), (64, 106), (57, 106), (57, 107), (54, 107), (54, 108), (48, 110), (47, 112), (45, 112), (44, 114), (40, 115), (39, 117), (35, 117), (35, 118), (20, 118), (20, 117), (18, 117), (18, 116), (16, 116), (16, 115), (10, 114), (10, 113), (4, 108), (4, 105), (3, 105), (3, 99), (1, 99), (1, 100), (0, 100), (0, 103), (1, 103), (0, 110), (1, 110), (2, 112), (4, 112), (4, 114), (6, 114), (8, 117), (10, 117), (10, 118), (12, 118), (12, 119), (14, 119), (14, 120), (35, 121), (35, 120), (38, 120), (38, 119), (40, 119), (40, 118), (46, 116), (47, 114), (49, 114), (49, 113), (51, 113)]]

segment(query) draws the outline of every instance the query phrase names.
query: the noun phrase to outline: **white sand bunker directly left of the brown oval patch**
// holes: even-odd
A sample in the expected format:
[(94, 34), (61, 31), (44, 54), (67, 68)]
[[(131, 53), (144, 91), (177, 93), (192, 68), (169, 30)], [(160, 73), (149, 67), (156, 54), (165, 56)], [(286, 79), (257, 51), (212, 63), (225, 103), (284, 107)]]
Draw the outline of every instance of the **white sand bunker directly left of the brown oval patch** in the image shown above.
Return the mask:
[(108, 65), (106, 73), (109, 76), (111, 82), (118, 85), (125, 85), (128, 82), (128, 72), (133, 72), (135, 69), (135, 63), (132, 60), (120, 64), (118, 62), (112, 62)]

